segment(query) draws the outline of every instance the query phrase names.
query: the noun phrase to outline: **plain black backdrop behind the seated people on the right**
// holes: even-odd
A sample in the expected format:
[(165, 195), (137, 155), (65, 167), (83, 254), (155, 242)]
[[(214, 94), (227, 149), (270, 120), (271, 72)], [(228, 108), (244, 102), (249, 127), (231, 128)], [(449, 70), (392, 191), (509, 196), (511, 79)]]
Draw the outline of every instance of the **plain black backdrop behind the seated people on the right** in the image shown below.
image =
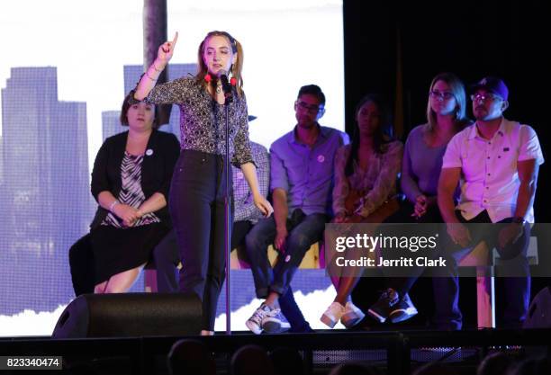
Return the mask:
[[(473, 84), (483, 76), (500, 76), (510, 90), (509, 120), (532, 126), (543, 148), (549, 144), (548, 112), (551, 103), (549, 69), (549, 13), (543, 1), (398, 2), (344, 0), (346, 129), (356, 126), (354, 109), (367, 93), (381, 93), (391, 108), (402, 98), (403, 140), (410, 129), (426, 122), (430, 81), (439, 72), (450, 71)], [(398, 56), (401, 63), (398, 63)], [(402, 95), (396, 90), (397, 71), (402, 72)], [(398, 101), (400, 103), (400, 101)], [(471, 103), (468, 103), (469, 116)], [(547, 165), (539, 169), (535, 203), (537, 222), (551, 222)], [(537, 227), (534, 228), (537, 233)], [(534, 233), (533, 233), (534, 234)], [(538, 238), (540, 257), (549, 247)], [(548, 263), (547, 263), (548, 264)], [(548, 279), (533, 278), (532, 295)], [(354, 292), (357, 305), (366, 308), (384, 288), (381, 279), (364, 278)], [(434, 301), (429, 279), (420, 279), (411, 298), (420, 317), (410, 326), (422, 326), (432, 313)], [(498, 308), (500, 282), (496, 280)], [(476, 326), (474, 278), (461, 280), (461, 306), (465, 327)]]

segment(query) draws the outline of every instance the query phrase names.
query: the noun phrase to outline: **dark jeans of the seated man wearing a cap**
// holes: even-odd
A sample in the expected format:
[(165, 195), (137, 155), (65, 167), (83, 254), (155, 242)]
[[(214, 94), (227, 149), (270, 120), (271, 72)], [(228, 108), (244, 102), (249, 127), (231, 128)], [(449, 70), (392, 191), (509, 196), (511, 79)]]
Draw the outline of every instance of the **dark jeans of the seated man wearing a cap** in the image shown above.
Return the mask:
[[(484, 210), (478, 216), (471, 220), (465, 220), (463, 216), (456, 211), (457, 218), (463, 223), (479, 223), (488, 224), (492, 220), (488, 213)], [(497, 224), (510, 223), (511, 218), (503, 219)], [(503, 272), (514, 274), (515, 277), (504, 277), (503, 283), (505, 288), (506, 306), (502, 315), (502, 326), (509, 328), (519, 328), (526, 318), (528, 312), (528, 303), (530, 296), (530, 272), (528, 267), (528, 259), (526, 257), (528, 251), (528, 243), (530, 237), (530, 227), (525, 225), (523, 234), (517, 242), (511, 246), (500, 248), (497, 246), (497, 237), (499, 229), (503, 226), (469, 226), (472, 245), (476, 246), (481, 241), (485, 241), (488, 248), (496, 247), (502, 258), (511, 258), (514, 254), (518, 254), (514, 259), (503, 261), (500, 266)], [(446, 257), (449, 266), (440, 267), (440, 271), (444, 274), (438, 275), (443, 277), (435, 277), (433, 279), (434, 293), (436, 300), (435, 325), (441, 329), (461, 329), (462, 315), (459, 310), (459, 279), (457, 276), (457, 261), (462, 255), (468, 253), (473, 246), (469, 248), (460, 248), (454, 245), (449, 238), (445, 244), (444, 256)], [(498, 271), (500, 270), (498, 269)], [(517, 277), (518, 275), (518, 277)]]

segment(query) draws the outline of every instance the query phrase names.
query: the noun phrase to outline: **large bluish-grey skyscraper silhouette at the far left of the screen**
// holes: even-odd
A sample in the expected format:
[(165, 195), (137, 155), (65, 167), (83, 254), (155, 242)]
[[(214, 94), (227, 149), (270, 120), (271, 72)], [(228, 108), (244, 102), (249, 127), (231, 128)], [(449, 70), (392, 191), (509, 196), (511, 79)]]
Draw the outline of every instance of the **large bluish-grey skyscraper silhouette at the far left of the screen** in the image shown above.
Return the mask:
[(68, 248), (94, 208), (86, 103), (58, 101), (56, 67), (14, 67), (2, 120), (0, 314), (53, 310), (73, 297)]

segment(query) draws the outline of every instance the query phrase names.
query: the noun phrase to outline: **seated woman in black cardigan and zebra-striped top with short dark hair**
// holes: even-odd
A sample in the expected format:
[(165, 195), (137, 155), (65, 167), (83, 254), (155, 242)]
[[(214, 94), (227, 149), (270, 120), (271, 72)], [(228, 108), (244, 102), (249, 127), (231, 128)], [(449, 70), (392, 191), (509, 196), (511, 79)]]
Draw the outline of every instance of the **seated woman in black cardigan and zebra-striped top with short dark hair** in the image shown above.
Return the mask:
[(95, 259), (95, 293), (129, 290), (153, 248), (171, 228), (168, 189), (180, 145), (158, 131), (155, 106), (122, 103), (128, 131), (107, 138), (95, 156), (92, 194), (99, 203), (90, 243)]

